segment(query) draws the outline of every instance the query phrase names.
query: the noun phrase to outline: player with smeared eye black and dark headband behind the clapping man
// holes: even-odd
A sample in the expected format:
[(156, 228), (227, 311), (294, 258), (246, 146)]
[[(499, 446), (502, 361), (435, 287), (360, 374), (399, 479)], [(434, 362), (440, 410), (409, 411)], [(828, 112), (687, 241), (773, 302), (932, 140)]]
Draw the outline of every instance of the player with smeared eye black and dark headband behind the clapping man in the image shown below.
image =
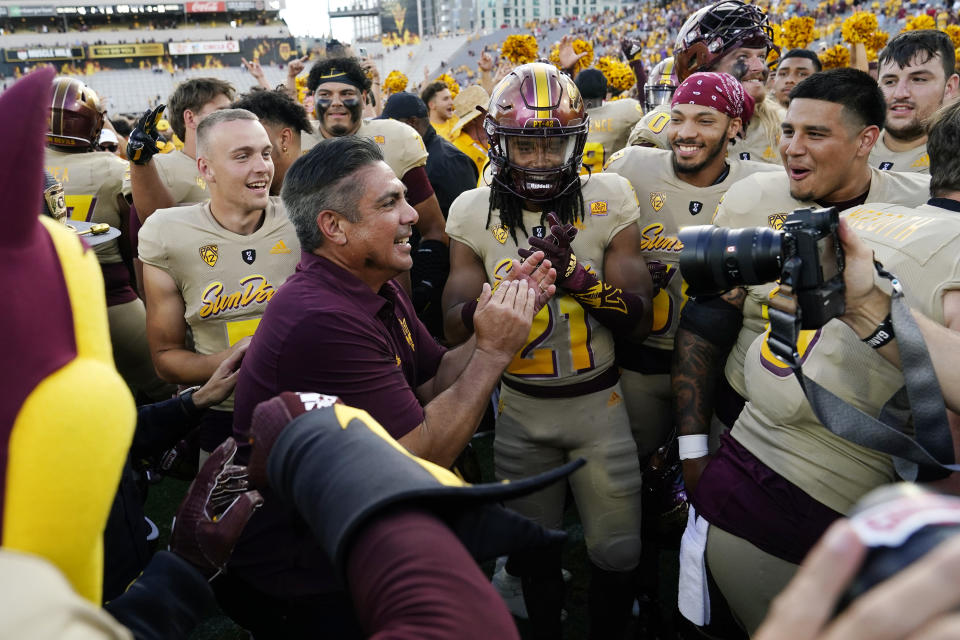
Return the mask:
[[(324, 138), (370, 138), (383, 159), (407, 188), (407, 202), (417, 210), (420, 233), (415, 241), (410, 277), (418, 300), (432, 299), (433, 283), (446, 279), (450, 269), (447, 234), (440, 203), (427, 175), (427, 150), (412, 127), (397, 120), (364, 120), (363, 105), (370, 79), (355, 58), (327, 58), (310, 69), (307, 88), (314, 95), (319, 133)], [(417, 311), (421, 312), (422, 307)]]

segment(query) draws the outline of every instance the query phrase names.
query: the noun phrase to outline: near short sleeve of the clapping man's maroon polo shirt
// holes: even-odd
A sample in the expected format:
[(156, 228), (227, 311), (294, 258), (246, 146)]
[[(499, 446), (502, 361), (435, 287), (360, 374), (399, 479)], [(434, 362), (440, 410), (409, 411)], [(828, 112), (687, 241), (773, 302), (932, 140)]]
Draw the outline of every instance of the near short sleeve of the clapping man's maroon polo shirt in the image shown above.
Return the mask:
[(340, 396), (398, 439), (423, 422), (423, 407), (396, 355), (383, 334), (367, 324), (336, 313), (312, 314), (291, 330), (278, 362), (278, 393)]

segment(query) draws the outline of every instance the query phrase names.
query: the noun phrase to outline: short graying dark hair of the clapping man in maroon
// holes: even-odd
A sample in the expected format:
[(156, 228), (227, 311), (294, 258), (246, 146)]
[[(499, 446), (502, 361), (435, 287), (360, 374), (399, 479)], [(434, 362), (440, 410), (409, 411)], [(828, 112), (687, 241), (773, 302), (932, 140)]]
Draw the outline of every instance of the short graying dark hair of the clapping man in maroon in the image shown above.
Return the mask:
[(320, 141), (290, 166), (280, 197), (304, 251), (323, 244), (317, 225), (321, 211), (336, 211), (351, 222), (360, 219), (357, 203), (364, 185), (357, 184), (353, 175), (382, 160), (383, 153), (373, 140), (342, 136)]

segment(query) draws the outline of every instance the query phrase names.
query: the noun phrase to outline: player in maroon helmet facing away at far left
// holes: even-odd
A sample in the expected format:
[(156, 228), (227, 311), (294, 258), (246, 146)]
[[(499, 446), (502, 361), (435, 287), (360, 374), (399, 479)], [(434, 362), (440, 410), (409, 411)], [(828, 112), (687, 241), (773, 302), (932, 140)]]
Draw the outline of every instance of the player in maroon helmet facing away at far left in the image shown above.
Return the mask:
[(103, 222), (121, 237), (94, 251), (103, 271), (110, 341), (117, 370), (134, 393), (150, 400), (169, 397), (172, 388), (157, 377), (147, 347), (147, 316), (131, 286), (127, 233), (130, 205), (121, 193), (127, 163), (96, 151), (106, 112), (97, 94), (79, 80), (56, 78), (47, 127), (45, 164), (63, 184), (70, 220)]

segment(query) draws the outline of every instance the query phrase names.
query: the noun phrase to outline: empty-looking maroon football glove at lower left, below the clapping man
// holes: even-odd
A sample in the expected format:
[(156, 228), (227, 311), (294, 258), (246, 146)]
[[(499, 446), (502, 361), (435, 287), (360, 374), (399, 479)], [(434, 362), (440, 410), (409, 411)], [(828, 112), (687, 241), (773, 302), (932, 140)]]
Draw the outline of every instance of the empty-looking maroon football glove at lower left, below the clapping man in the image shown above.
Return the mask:
[(243, 528), (263, 504), (250, 489), (247, 468), (232, 464), (237, 453), (233, 438), (217, 447), (204, 462), (177, 509), (170, 531), (170, 551), (212, 579), (223, 571)]

